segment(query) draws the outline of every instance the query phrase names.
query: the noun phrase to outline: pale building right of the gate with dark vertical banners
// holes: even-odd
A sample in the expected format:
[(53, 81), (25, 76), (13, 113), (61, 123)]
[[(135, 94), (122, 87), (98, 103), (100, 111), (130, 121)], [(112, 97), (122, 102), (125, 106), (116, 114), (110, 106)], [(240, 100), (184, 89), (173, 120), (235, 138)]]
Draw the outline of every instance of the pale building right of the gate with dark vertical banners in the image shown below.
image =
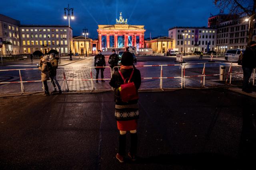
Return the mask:
[(173, 27), (168, 37), (173, 39), (173, 48), (180, 52), (214, 51), (216, 48), (216, 29), (207, 27)]

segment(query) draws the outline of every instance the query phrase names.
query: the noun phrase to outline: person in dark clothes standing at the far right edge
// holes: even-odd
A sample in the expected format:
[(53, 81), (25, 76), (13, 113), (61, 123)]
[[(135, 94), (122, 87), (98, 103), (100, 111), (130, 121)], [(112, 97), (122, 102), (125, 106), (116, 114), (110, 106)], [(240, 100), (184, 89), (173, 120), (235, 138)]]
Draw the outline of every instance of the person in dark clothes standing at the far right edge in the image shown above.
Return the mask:
[(244, 72), (243, 88), (246, 93), (250, 93), (249, 80), (252, 75), (253, 68), (256, 67), (256, 42), (251, 41), (250, 46), (246, 48), (242, 58), (242, 69)]

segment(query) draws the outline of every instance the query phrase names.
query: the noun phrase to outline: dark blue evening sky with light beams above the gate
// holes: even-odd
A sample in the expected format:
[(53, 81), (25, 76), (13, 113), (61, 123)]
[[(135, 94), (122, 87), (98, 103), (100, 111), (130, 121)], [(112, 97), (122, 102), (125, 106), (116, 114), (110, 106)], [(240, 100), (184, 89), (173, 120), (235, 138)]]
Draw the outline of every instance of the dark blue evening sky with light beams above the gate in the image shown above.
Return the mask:
[(68, 25), (64, 8), (74, 8), (70, 25), (73, 35), (88, 28), (97, 37), (98, 24), (115, 24), (122, 12), (130, 25), (145, 25), (145, 37), (168, 36), (174, 26), (207, 26), (207, 19), (219, 10), (213, 0), (4, 0), (0, 14), (20, 20), (21, 24)]

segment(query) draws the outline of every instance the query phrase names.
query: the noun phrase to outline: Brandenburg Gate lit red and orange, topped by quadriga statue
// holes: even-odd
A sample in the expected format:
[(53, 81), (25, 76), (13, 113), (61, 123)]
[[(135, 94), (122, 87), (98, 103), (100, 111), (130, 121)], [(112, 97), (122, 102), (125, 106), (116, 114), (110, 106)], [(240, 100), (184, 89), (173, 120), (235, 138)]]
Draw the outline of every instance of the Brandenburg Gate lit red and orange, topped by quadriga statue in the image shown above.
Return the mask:
[(144, 25), (128, 25), (127, 19), (116, 19), (115, 25), (98, 25), (99, 48), (106, 51), (108, 48), (125, 48), (134, 46), (138, 50), (144, 48)]

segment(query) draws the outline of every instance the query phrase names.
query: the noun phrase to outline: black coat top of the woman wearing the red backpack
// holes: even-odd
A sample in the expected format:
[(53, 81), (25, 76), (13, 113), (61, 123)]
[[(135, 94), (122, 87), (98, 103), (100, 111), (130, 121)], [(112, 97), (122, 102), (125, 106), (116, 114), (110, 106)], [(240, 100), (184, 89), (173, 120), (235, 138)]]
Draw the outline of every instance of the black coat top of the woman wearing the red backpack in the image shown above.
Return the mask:
[[(126, 78), (130, 77), (130, 75), (132, 73), (132, 69), (121, 70), (121, 72), (122, 72), (124, 78), (126, 79)], [(132, 75), (131, 82), (134, 82), (137, 90), (140, 88), (140, 84), (141, 84), (140, 70), (138, 70), (136, 68), (134, 69), (134, 73)], [(110, 86), (115, 88), (115, 102), (117, 105), (136, 104), (138, 102), (138, 100), (133, 100), (128, 103), (122, 102), (118, 88), (121, 86), (121, 84), (124, 84), (124, 80), (122, 79), (122, 77), (120, 76), (118, 71), (115, 71), (113, 73), (109, 84), (110, 84)]]

